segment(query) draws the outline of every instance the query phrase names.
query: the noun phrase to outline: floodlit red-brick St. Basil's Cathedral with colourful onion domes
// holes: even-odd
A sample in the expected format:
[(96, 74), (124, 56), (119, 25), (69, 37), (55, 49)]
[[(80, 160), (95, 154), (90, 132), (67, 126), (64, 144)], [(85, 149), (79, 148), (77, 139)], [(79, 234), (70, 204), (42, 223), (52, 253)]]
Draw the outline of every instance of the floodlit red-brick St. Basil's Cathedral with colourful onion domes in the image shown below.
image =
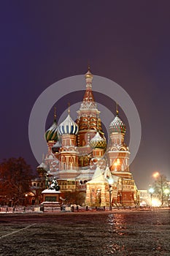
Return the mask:
[[(100, 111), (92, 91), (93, 75), (85, 74), (85, 95), (77, 120), (68, 116), (45, 132), (48, 151), (37, 167), (39, 178), (47, 188), (53, 177), (58, 181), (61, 199), (82, 206), (137, 206), (139, 193), (129, 170), (130, 151), (125, 145), (125, 124), (118, 109), (109, 124), (108, 144), (102, 130)], [(32, 192), (36, 193), (36, 183)]]

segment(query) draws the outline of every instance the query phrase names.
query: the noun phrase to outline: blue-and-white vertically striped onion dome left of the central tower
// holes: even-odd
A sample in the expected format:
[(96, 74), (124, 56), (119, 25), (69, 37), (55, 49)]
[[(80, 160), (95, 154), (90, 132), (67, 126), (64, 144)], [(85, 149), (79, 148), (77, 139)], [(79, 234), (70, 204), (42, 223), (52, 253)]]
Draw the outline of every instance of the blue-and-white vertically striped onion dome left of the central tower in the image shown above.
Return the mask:
[(68, 115), (66, 119), (58, 127), (58, 132), (60, 135), (77, 135), (78, 130), (78, 125), (72, 120), (70, 115)]

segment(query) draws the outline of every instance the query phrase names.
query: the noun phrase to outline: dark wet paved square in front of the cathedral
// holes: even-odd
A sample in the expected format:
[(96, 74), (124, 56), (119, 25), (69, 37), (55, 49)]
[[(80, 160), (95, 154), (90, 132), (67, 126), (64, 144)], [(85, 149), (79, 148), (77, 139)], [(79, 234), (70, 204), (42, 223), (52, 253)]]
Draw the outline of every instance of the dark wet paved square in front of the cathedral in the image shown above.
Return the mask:
[(169, 239), (169, 210), (0, 215), (0, 255), (169, 256)]

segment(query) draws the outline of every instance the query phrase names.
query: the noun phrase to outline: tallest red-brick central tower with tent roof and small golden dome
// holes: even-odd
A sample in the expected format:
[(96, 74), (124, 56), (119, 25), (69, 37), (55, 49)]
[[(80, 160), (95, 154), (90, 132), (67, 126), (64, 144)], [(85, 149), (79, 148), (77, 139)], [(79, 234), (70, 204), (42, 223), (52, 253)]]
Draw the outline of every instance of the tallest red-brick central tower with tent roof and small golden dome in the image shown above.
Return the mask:
[(94, 101), (92, 91), (93, 75), (88, 67), (88, 72), (85, 74), (86, 90), (80, 109), (77, 111), (77, 124), (79, 125), (79, 132), (77, 134), (77, 146), (79, 148), (80, 167), (89, 165), (91, 157), (90, 140), (99, 132), (101, 137), (104, 132), (101, 128), (101, 119), (99, 118), (100, 111)]

